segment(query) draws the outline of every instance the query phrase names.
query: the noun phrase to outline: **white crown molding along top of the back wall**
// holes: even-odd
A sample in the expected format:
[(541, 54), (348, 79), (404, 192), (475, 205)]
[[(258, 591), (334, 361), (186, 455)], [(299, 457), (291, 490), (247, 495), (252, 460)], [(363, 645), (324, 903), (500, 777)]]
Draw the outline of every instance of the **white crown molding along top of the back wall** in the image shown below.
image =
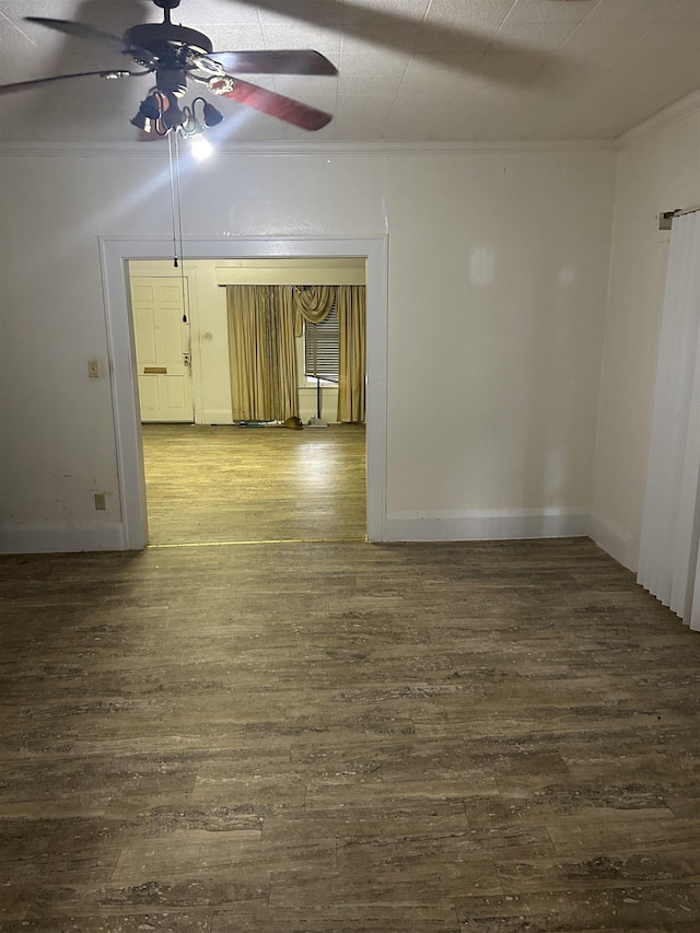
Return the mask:
[[(243, 142), (215, 145), (212, 158), (224, 156), (362, 156), (362, 155), (504, 155), (516, 153), (611, 152), (610, 139), (497, 140), (488, 142)], [(138, 142), (4, 142), (0, 155), (73, 155), (167, 159), (167, 148)]]

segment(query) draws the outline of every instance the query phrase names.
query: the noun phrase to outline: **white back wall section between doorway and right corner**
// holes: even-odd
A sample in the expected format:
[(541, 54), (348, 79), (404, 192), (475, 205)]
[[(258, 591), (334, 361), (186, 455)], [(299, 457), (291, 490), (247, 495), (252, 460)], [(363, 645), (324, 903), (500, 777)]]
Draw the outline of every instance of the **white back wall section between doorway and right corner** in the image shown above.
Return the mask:
[(431, 162), (388, 179), (389, 516), (427, 537), (583, 530), (612, 159)]

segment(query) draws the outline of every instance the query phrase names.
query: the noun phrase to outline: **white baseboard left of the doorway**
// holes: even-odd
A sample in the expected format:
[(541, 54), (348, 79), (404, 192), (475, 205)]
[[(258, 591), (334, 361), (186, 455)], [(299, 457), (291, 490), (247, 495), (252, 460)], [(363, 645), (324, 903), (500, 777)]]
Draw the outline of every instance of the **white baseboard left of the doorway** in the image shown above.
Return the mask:
[(0, 525), (0, 553), (69, 553), (124, 550), (124, 526)]

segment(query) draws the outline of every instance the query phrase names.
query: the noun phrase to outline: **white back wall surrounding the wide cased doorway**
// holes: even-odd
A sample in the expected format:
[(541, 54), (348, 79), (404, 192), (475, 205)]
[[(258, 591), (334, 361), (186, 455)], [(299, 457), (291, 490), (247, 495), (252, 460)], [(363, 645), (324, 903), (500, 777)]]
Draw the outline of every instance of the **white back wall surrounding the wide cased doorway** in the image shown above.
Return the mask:
[[(0, 547), (118, 547), (98, 236), (166, 237), (164, 156), (2, 158)], [(584, 530), (615, 155), (221, 154), (185, 236), (387, 234), (386, 534)], [(106, 513), (93, 492), (107, 492)]]

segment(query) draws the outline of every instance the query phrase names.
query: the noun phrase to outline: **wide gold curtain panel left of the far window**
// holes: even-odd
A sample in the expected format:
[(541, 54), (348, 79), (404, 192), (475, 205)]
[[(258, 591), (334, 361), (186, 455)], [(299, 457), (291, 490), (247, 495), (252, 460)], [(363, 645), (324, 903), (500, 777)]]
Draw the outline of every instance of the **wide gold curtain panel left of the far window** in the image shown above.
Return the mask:
[(280, 285), (228, 285), (234, 421), (299, 417), (294, 308)]

